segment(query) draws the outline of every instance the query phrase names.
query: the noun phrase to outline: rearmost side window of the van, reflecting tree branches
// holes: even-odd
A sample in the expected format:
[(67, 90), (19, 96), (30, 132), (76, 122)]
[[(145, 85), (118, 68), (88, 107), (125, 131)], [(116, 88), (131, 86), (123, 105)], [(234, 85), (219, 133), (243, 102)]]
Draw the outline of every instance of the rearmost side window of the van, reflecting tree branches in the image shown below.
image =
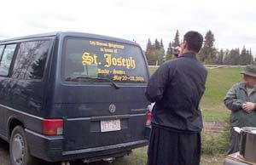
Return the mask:
[(42, 79), (49, 46), (49, 40), (20, 43), (12, 77)]

